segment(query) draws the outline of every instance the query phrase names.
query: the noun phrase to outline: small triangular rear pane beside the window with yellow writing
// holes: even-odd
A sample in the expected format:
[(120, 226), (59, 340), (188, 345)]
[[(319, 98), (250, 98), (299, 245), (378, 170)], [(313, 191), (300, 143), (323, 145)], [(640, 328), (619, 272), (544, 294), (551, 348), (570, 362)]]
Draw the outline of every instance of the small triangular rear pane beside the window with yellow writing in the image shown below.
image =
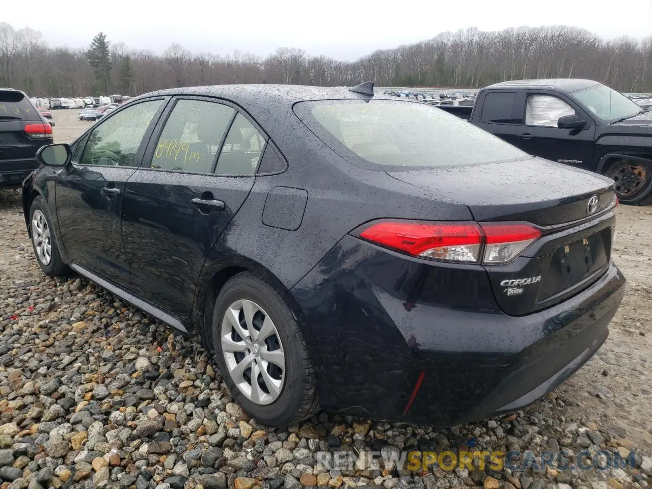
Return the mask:
[(254, 175), (265, 149), (265, 137), (244, 115), (238, 113), (226, 135), (215, 173), (219, 175)]

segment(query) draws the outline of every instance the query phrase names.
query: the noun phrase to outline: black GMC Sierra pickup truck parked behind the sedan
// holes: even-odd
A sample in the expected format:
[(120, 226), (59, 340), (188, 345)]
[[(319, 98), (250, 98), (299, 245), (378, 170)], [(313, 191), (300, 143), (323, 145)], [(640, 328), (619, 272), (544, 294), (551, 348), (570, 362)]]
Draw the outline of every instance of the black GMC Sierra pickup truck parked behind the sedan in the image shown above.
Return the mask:
[(652, 202), (652, 111), (591, 80), (521, 80), (483, 88), (470, 107), (440, 106), (541, 156), (615, 181), (619, 201)]

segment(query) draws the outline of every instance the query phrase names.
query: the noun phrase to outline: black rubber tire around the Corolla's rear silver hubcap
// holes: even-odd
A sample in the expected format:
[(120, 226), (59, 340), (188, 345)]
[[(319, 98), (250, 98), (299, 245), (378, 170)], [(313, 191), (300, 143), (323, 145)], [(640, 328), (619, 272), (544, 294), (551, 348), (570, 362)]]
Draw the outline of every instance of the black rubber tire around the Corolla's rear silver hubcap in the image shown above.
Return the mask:
[[(222, 318), (224, 318), (228, 306), (239, 299), (254, 301), (267, 312), (276, 326), (276, 331), (278, 331), (285, 352), (286, 368), (284, 376), (286, 377), (283, 382), (283, 389), (280, 396), (273, 403), (265, 406), (255, 404), (241, 393), (233, 379), (231, 379), (222, 353), (220, 342)], [(271, 426), (284, 426), (293, 419), (295, 411), (301, 407), (304, 379), (301, 347), (294, 334), (296, 328), (296, 321), (289, 314), (287, 306), (279, 303), (279, 299), (273, 291), (250, 277), (232, 279), (222, 288), (215, 301), (215, 307), (213, 308), (213, 348), (215, 349), (216, 361), (231, 396), (256, 421)]]

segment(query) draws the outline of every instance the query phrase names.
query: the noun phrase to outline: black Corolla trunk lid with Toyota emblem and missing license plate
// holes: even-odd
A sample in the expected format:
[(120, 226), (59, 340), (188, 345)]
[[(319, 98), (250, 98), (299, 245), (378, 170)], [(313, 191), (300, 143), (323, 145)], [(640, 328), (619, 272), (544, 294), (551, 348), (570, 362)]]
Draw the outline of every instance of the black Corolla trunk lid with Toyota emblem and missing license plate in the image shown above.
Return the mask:
[(541, 230), (541, 238), (518, 258), (484, 266), (506, 314), (531, 314), (557, 304), (608, 268), (615, 194), (606, 177), (541, 158), (389, 175), (466, 204), (477, 222), (529, 222)]

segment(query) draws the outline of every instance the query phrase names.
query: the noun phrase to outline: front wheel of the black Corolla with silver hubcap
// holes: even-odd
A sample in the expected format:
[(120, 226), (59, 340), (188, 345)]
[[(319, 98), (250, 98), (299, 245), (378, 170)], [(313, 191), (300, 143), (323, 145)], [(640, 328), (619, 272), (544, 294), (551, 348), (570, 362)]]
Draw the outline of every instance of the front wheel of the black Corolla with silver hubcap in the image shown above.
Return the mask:
[(52, 218), (41, 196), (35, 198), (29, 207), (29, 233), (34, 255), (41, 270), (52, 277), (70, 274), (68, 265), (61, 259), (59, 244), (52, 229)]

